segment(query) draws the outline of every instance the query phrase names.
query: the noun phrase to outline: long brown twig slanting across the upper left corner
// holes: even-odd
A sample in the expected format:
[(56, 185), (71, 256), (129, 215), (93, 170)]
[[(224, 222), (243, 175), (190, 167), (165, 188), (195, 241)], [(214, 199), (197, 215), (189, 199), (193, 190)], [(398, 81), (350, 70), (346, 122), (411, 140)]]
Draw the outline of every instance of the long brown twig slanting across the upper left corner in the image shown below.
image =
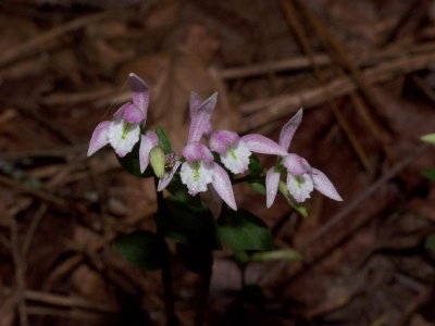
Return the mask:
[(25, 55), (29, 55), (33, 52), (36, 52), (41, 45), (51, 41), (53, 38), (57, 38), (74, 29), (82, 28), (95, 22), (101, 21), (103, 18), (108, 18), (113, 14), (114, 12), (104, 11), (102, 13), (96, 13), (85, 17), (79, 17), (59, 27), (52, 28), (46, 33), (42, 33), (37, 37), (32, 37), (29, 40), (3, 51), (0, 55), (0, 66), (4, 66), (5, 64), (16, 61)]

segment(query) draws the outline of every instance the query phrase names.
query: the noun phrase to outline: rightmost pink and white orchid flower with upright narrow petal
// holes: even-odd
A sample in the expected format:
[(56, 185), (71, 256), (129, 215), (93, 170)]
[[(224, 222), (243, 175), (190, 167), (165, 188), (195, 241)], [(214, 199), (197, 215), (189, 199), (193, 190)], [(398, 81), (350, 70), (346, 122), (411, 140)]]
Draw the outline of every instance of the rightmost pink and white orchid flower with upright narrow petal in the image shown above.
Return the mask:
[[(302, 121), (302, 109), (300, 109), (282, 128), (279, 146), (283, 150), (288, 151), (293, 136)], [(306, 199), (310, 198), (310, 193), (313, 189), (316, 189), (331, 199), (343, 201), (327, 176), (320, 170), (311, 167), (306, 159), (286, 152), (281, 163), (287, 171), (288, 191), (297, 202), (303, 202)], [(268, 171), (265, 178), (268, 208), (270, 208), (275, 200), (281, 172), (282, 168), (279, 168), (279, 166), (273, 166)]]

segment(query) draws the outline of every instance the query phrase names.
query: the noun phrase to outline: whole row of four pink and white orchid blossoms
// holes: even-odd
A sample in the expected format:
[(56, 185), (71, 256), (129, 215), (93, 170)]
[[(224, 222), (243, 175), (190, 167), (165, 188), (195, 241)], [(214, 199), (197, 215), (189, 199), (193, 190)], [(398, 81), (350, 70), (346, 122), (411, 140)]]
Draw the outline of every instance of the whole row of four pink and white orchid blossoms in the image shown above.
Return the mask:
[[(135, 74), (128, 76), (133, 101), (122, 105), (111, 121), (100, 123), (94, 130), (88, 155), (111, 145), (120, 158), (129, 153), (140, 140), (140, 172), (149, 164), (150, 152), (159, 146), (159, 137), (152, 130), (145, 131), (149, 92), (147, 84)], [(257, 134), (239, 136), (234, 131), (213, 130), (210, 117), (216, 105), (217, 93), (201, 101), (195, 92), (190, 97), (190, 127), (183, 156), (167, 154), (173, 160), (172, 168), (160, 178), (158, 190), (162, 191), (172, 180), (181, 166), (181, 179), (188, 192), (196, 196), (209, 191), (221, 198), (229, 208), (237, 210), (233, 186), (226, 170), (233, 174), (248, 171), (252, 153), (277, 156), (277, 163), (266, 173), (266, 205), (270, 208), (276, 197), (282, 172), (287, 172), (288, 192), (297, 202), (310, 198), (315, 188), (334, 200), (343, 200), (330, 179), (321, 171), (311, 167), (303, 158), (288, 153), (293, 136), (302, 120), (302, 110), (283, 127), (279, 142)], [(141, 134), (144, 133), (144, 134)], [(212, 152), (219, 154), (215, 161)], [(222, 163), (225, 167), (221, 166)]]

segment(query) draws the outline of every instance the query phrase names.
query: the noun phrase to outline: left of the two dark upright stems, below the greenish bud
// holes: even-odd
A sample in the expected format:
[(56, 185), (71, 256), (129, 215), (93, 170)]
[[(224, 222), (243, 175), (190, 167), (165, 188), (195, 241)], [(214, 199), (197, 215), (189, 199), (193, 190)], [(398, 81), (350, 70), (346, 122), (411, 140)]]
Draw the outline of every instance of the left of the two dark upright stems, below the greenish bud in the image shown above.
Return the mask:
[[(166, 208), (164, 204), (163, 193), (161, 191), (157, 191), (158, 184), (159, 179), (154, 177), (154, 186), (157, 193), (157, 214), (160, 216), (164, 216)], [(157, 228), (157, 235), (161, 238), (162, 242), (164, 242), (166, 251), (165, 263), (162, 267), (166, 325), (175, 326), (178, 324), (178, 317), (175, 314), (175, 308), (174, 308), (174, 289), (173, 289), (172, 271), (171, 271), (171, 252), (164, 239), (164, 234), (162, 229), (159, 227), (158, 223), (156, 223), (156, 228)]]

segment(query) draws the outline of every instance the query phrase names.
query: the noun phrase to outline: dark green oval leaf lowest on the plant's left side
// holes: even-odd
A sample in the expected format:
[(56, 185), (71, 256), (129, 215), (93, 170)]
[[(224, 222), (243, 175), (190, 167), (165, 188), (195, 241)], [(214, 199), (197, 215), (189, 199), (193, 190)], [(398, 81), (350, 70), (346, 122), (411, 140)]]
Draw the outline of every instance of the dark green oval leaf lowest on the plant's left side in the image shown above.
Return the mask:
[(122, 236), (115, 247), (124, 259), (144, 271), (161, 268), (167, 258), (165, 243), (156, 234), (146, 230)]

